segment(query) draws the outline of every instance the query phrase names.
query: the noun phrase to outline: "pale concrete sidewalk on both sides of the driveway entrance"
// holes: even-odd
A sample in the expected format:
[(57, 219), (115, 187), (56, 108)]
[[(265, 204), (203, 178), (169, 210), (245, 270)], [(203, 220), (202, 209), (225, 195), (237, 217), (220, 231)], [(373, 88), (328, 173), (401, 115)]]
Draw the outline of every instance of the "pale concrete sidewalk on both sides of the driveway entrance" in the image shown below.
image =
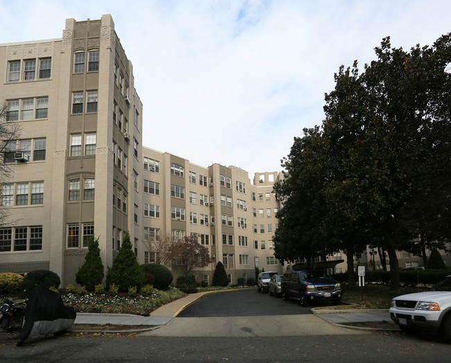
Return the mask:
[[(225, 291), (219, 290), (217, 292)], [(202, 296), (205, 296), (205, 294), (213, 293), (216, 292), (199, 292), (197, 294), (189, 294), (183, 298), (159, 307), (157, 310), (151, 312), (150, 316), (139, 316), (132, 314), (77, 313), (74, 324), (135, 326), (136, 331), (148, 330), (151, 329), (151, 327), (155, 328), (155, 326), (167, 325), (167, 323), (174, 319), (183, 309), (185, 309), (185, 307), (194, 303)], [(324, 310), (314, 308), (312, 313), (323, 319), (323, 321), (333, 324), (365, 321), (390, 321), (389, 310)], [(74, 330), (77, 330), (76, 326), (74, 326)], [(128, 328), (127, 331), (130, 332), (133, 331), (133, 329), (130, 330), (130, 328)]]

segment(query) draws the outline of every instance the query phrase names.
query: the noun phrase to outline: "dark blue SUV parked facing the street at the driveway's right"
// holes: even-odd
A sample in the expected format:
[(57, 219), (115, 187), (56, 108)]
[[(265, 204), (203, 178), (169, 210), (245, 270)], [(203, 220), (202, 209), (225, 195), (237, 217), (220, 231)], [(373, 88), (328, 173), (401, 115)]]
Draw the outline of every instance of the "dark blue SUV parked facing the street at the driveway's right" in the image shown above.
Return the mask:
[(282, 277), (282, 298), (297, 298), (302, 306), (318, 300), (330, 300), (339, 304), (341, 296), (341, 284), (325, 276), (323, 271), (289, 270)]

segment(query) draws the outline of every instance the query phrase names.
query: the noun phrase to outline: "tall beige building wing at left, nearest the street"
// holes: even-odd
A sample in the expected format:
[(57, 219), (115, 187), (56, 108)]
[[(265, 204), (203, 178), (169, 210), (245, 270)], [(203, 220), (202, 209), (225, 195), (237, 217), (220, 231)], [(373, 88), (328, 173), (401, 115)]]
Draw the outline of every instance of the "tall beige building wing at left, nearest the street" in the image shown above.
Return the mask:
[(21, 128), (0, 160), (14, 164), (1, 179), (0, 271), (50, 269), (66, 285), (93, 233), (111, 266), (124, 231), (141, 233), (130, 205), (142, 168), (142, 103), (112, 17), (0, 44), (0, 72), (6, 121)]

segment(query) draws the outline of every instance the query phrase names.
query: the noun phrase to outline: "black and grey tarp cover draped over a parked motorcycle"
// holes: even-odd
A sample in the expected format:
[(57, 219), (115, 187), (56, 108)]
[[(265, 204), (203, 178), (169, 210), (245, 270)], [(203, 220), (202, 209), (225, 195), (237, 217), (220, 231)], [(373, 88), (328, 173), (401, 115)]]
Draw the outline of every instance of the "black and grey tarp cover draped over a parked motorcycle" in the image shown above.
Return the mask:
[(76, 318), (73, 307), (65, 306), (56, 292), (37, 285), (31, 292), (25, 310), (24, 326), (19, 339), (35, 339), (71, 328)]

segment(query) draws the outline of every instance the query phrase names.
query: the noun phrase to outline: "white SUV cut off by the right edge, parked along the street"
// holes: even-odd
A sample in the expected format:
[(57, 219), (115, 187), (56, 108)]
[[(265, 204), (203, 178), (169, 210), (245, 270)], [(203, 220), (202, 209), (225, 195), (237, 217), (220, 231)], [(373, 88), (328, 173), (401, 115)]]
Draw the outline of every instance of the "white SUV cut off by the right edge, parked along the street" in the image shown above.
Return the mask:
[(440, 332), (451, 343), (451, 275), (428, 292), (393, 298), (390, 317), (404, 332)]

